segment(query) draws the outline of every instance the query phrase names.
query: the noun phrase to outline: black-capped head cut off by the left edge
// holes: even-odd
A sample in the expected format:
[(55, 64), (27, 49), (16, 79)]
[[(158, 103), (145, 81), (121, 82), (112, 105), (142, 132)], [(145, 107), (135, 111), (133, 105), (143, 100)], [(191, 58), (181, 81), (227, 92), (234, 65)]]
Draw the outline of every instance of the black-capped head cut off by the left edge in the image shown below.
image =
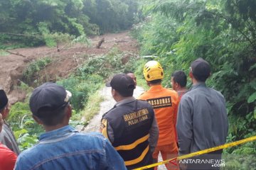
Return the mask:
[(5, 120), (7, 116), (9, 115), (9, 111), (11, 108), (11, 105), (8, 102), (8, 98), (6, 96), (6, 93), (3, 89), (0, 89), (0, 113), (3, 116), (3, 119)]

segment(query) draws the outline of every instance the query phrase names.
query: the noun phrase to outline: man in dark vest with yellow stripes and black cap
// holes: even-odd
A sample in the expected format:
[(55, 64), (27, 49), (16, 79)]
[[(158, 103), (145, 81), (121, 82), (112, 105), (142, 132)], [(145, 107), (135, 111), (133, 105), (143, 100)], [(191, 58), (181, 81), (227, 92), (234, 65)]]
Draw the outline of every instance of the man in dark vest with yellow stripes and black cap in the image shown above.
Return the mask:
[(159, 137), (154, 109), (133, 97), (134, 80), (126, 74), (115, 75), (110, 83), (117, 103), (103, 115), (100, 131), (124, 159), (127, 169), (151, 164)]

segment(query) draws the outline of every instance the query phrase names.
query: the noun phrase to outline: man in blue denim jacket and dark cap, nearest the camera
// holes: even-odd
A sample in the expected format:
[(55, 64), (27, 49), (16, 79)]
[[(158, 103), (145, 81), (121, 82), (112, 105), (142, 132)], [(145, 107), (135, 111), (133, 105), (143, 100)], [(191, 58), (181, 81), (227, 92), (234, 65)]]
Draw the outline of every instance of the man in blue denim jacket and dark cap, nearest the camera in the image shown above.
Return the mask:
[(33, 91), (29, 106), (46, 132), (37, 145), (18, 156), (15, 169), (126, 169), (123, 159), (100, 133), (83, 134), (68, 125), (70, 96), (54, 83)]

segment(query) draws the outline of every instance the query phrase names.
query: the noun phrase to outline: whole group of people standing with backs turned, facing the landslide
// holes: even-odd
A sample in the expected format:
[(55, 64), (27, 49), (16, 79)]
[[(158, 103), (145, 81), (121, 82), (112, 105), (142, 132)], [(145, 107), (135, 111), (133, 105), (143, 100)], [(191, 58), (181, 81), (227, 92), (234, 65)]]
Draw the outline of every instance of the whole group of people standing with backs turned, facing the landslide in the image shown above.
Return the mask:
[[(2, 132), (5, 131), (0, 135), (3, 143), (0, 143), (0, 170), (8, 170), (6, 167), (17, 170), (136, 169), (158, 162), (159, 154), (166, 160), (225, 143), (228, 135), (225, 99), (220, 92), (206, 86), (206, 79), (210, 77), (208, 62), (199, 58), (191, 63), (189, 77), (193, 86), (189, 90), (183, 71), (171, 75), (173, 89), (164, 88), (161, 85), (164, 69), (159, 62), (147, 62), (143, 74), (149, 90), (139, 98), (133, 97), (137, 84), (132, 73), (116, 74), (106, 84), (111, 87), (117, 103), (102, 116), (100, 132), (82, 133), (69, 125), (72, 94), (63, 86), (54, 83), (38, 86), (29, 106), (33, 119), (43, 125), (46, 132), (37, 145), (21, 154), (14, 147), (16, 140), (6, 123), (8, 98), (0, 90), (0, 131), (3, 120)], [(4, 142), (3, 135), (8, 136), (14, 146)], [(221, 159), (221, 152), (193, 159)], [(4, 162), (7, 157), (9, 162)], [(166, 164), (166, 169), (218, 168), (211, 164), (174, 161)]]

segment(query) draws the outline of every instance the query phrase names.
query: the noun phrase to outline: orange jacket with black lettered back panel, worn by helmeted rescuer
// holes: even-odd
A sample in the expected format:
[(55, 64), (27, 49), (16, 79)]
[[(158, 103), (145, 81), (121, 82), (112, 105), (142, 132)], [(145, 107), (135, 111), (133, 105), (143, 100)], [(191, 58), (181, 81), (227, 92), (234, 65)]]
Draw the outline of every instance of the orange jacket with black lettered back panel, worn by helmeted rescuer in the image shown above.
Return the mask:
[(148, 101), (154, 108), (159, 125), (157, 146), (174, 145), (176, 147), (176, 115), (178, 110), (178, 94), (174, 90), (161, 85), (151, 86), (139, 99)]

